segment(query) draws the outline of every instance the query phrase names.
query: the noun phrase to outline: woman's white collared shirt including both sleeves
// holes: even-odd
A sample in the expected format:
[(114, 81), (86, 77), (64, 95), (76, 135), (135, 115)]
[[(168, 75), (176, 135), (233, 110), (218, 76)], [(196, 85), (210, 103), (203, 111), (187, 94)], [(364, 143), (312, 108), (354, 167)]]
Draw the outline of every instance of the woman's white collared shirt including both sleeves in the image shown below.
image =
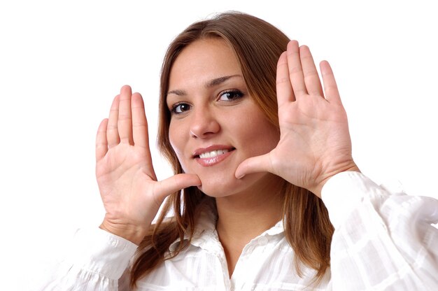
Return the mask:
[[(438, 290), (436, 199), (391, 194), (358, 172), (330, 178), (322, 197), (335, 232), (331, 268), (318, 284), (313, 269), (297, 276), (282, 222), (243, 248), (229, 278), (215, 215), (204, 211), (190, 246), (141, 279), (138, 290)], [(135, 251), (101, 229), (80, 230), (71, 256), (40, 290), (129, 290)]]

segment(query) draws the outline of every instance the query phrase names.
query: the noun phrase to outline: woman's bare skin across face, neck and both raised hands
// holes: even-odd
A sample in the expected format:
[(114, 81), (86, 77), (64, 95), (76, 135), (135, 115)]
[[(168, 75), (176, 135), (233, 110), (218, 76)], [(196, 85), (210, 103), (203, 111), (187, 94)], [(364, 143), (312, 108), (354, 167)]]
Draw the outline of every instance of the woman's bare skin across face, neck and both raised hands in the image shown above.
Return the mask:
[[(205, 46), (197, 59), (194, 52), (202, 45), (212, 43), (197, 41), (189, 45), (171, 71), (170, 90), (185, 91), (187, 99), (182, 101), (192, 106), (185, 116), (178, 115), (176, 119), (173, 115), (170, 127), (172, 146), (186, 173), (157, 181), (150, 159), (143, 100), (140, 94), (132, 94), (129, 86), (122, 87), (108, 119), (101, 122), (96, 146), (97, 182), (106, 209), (101, 228), (139, 244), (167, 195), (198, 186), (216, 197), (217, 230), (231, 276), (243, 246), (281, 219), (278, 217), (281, 193), (275, 188), (278, 177), (320, 197), (328, 179), (342, 171), (358, 171), (358, 167), (351, 157), (346, 113), (327, 62), (320, 63), (322, 85), (309, 48), (299, 47), (297, 41), (288, 43), (277, 69), (280, 136), (270, 136), (267, 121), (259, 115), (250, 97), (225, 101), (229, 103), (224, 105), (218, 99), (222, 87), (206, 90), (205, 83), (212, 78), (224, 73), (239, 75), (239, 71), (234, 55), (229, 55), (229, 48), (223, 43), (221, 50), (214, 52)], [(197, 62), (202, 58), (210, 60)], [(185, 63), (191, 66), (184, 66)], [(196, 73), (196, 78), (191, 73)], [(227, 82), (232, 82), (222, 84), (227, 89), (229, 86), (246, 89), (241, 87), (239, 78)], [(181, 98), (181, 94), (169, 94), (168, 106), (173, 105), (173, 98)], [(224, 119), (225, 112), (233, 119)], [(257, 118), (242, 123), (238, 121), (243, 119), (238, 118), (239, 114)], [(249, 126), (253, 122), (258, 122), (257, 127)], [(261, 134), (255, 138), (254, 130), (262, 130), (269, 138)], [(206, 169), (196, 164), (190, 151), (211, 143), (233, 146), (236, 150)], [(217, 169), (213, 175), (214, 167)], [(217, 190), (218, 185), (221, 191)]]

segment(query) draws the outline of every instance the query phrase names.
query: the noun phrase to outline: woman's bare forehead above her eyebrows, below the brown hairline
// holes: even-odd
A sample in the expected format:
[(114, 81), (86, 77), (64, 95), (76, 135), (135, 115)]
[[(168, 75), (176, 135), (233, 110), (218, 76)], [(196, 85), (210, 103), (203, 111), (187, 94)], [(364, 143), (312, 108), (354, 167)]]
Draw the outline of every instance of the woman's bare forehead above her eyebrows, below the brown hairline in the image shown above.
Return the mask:
[(169, 90), (232, 75), (241, 75), (232, 48), (222, 38), (205, 38), (190, 43), (176, 57), (170, 71)]

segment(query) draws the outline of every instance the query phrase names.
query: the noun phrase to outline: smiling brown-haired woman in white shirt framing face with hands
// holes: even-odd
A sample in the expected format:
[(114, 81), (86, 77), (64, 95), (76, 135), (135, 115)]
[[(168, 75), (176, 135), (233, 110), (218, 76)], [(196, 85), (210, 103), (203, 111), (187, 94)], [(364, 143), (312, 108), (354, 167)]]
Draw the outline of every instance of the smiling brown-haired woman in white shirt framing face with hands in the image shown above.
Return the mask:
[(143, 100), (122, 87), (97, 134), (103, 230), (77, 234), (52, 285), (437, 287), (437, 201), (390, 195), (360, 173), (330, 65), (320, 71), (322, 85), (309, 48), (250, 15), (185, 29), (161, 77), (158, 141), (176, 175), (157, 182)]

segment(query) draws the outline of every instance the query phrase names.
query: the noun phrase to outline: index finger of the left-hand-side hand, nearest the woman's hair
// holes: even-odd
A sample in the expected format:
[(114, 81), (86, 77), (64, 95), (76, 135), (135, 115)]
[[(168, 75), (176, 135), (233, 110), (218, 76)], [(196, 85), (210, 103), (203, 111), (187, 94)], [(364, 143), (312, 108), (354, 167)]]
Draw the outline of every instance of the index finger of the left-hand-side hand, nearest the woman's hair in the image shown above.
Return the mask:
[(148, 122), (141, 94), (132, 95), (132, 139), (135, 146), (149, 149)]

